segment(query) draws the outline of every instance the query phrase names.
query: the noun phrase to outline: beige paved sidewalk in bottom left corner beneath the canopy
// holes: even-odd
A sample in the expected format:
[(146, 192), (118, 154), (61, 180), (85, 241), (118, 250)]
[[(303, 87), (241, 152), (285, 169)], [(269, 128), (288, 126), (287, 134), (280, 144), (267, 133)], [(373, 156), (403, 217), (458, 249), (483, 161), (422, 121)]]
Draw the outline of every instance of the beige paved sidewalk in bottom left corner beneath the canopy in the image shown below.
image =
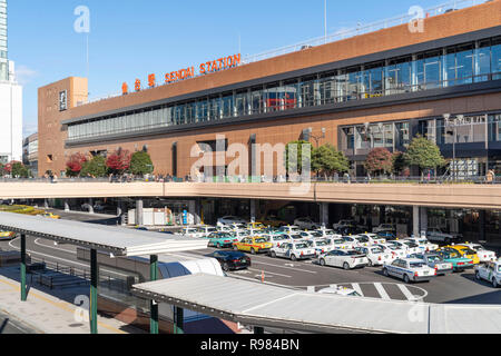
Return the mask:
[[(4, 271), (7, 268), (2, 268)], [(81, 316), (88, 312), (76, 313), (77, 306), (59, 299), (35, 287), (28, 290), (27, 301), (20, 299), (20, 284), (0, 276), (0, 313), (26, 324), (37, 334), (90, 334), (90, 326)], [(143, 334), (114, 318), (98, 316), (99, 334)]]

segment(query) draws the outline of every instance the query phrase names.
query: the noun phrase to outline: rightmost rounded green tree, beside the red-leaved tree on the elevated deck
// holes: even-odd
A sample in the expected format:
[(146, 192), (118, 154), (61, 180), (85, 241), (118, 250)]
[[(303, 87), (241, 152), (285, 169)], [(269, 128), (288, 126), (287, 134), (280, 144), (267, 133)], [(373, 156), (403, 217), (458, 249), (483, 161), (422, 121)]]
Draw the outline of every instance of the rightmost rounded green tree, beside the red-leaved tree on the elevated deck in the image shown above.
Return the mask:
[(415, 137), (404, 154), (404, 159), (411, 166), (416, 166), (421, 171), (430, 171), (436, 167), (445, 165), (445, 159), (440, 152), (440, 148), (429, 139)]

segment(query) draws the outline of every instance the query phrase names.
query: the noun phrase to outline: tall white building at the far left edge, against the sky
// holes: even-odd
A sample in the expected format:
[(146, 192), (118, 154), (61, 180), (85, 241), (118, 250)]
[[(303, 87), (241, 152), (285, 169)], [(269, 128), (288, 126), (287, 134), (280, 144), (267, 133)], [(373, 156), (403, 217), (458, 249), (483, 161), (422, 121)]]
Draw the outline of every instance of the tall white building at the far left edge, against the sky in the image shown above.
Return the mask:
[(22, 160), (22, 87), (8, 59), (7, 0), (0, 0), (0, 162)]

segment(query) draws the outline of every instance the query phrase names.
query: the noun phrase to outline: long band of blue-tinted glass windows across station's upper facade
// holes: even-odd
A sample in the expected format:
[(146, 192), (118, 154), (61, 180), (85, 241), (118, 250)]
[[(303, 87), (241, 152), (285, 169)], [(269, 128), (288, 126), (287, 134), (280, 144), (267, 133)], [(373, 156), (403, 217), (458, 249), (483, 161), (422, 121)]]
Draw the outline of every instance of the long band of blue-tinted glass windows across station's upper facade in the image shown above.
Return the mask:
[[(81, 139), (498, 79), (501, 79), (501, 37), (390, 58), (384, 62), (364, 63), (310, 77), (291, 78), (282, 82), (222, 92), (209, 98), (200, 97), (164, 107), (104, 117), (98, 119), (104, 121), (101, 123), (71, 125), (68, 134), (70, 140)], [(436, 129), (439, 130), (439, 127)], [(434, 138), (438, 142), (442, 134), (438, 132)], [(390, 145), (391, 139), (383, 138), (385, 135), (382, 132), (373, 131), (373, 135), (375, 147)], [(474, 141), (481, 134), (461, 132), (461, 135), (462, 140), (468, 136), (466, 140)], [(354, 137), (355, 146), (364, 146), (363, 140), (356, 139), (361, 138), (360, 134)]]

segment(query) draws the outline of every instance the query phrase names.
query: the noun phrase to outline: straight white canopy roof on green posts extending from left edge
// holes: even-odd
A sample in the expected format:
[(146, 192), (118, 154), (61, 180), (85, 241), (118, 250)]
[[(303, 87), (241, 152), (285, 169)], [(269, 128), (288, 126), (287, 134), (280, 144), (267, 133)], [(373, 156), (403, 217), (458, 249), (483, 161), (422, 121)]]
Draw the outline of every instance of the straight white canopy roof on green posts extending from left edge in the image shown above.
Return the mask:
[(89, 222), (0, 212), (0, 229), (107, 251), (147, 256), (207, 248), (207, 240)]

